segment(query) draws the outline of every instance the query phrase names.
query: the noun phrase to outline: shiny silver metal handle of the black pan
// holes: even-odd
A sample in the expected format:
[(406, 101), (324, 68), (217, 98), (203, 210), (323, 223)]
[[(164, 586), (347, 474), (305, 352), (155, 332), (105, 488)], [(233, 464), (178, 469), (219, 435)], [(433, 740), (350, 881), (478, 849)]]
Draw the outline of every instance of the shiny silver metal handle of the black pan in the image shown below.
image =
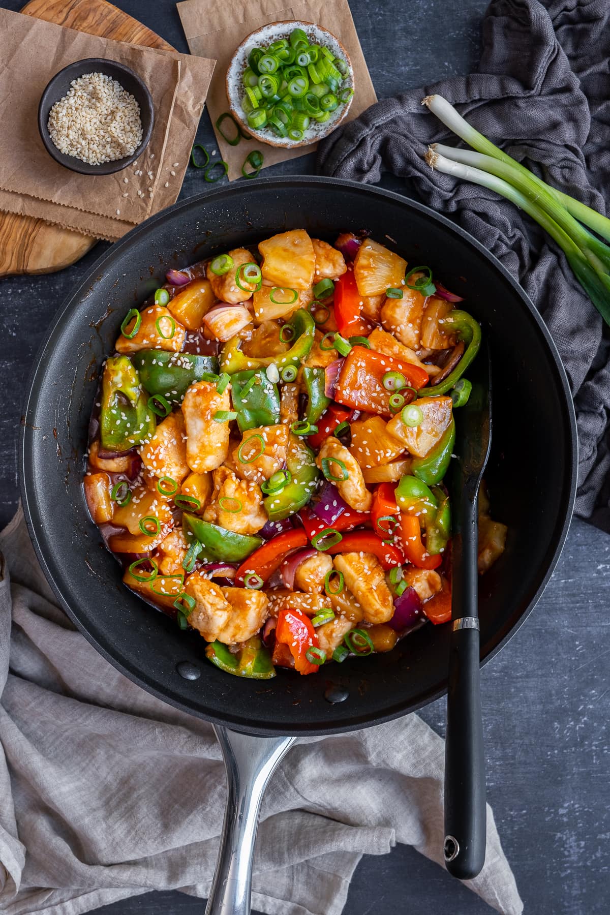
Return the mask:
[(206, 915), (250, 915), (252, 857), (262, 795), (295, 737), (251, 737), (214, 725), (227, 772), (227, 802)]

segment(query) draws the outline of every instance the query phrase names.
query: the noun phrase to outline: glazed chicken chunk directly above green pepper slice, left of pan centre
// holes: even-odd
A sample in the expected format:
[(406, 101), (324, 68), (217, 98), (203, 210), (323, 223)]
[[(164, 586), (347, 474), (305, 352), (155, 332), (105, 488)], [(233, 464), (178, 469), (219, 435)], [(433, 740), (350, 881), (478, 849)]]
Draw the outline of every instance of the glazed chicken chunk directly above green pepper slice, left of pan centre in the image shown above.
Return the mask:
[(203, 520), (234, 533), (260, 531), (268, 520), (262, 507), (261, 487), (251, 480), (238, 479), (227, 467), (217, 468), (212, 476), (214, 493)]

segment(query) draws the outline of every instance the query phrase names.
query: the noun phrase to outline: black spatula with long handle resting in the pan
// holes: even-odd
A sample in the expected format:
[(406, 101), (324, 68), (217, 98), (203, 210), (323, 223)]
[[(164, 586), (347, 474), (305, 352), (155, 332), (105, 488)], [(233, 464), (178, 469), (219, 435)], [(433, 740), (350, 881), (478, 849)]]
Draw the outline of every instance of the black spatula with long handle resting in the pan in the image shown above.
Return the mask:
[[(485, 863), (486, 789), (479, 684), (478, 490), (491, 446), (491, 365), (487, 346), (473, 365), (476, 378), (456, 410), (451, 482), (452, 631), (444, 753), (444, 861), (461, 880)], [(472, 373), (471, 373), (472, 378)]]

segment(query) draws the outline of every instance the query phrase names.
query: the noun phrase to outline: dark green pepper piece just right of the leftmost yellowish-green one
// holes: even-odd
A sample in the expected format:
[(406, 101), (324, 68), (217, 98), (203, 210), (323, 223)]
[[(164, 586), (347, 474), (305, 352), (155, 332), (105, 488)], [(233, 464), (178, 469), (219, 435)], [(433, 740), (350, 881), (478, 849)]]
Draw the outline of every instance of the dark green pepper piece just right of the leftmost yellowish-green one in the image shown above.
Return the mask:
[(206, 375), (216, 375), (216, 356), (196, 356), (189, 352), (140, 350), (132, 356), (142, 387), (149, 394), (163, 394), (172, 404), (181, 404), (187, 388)]

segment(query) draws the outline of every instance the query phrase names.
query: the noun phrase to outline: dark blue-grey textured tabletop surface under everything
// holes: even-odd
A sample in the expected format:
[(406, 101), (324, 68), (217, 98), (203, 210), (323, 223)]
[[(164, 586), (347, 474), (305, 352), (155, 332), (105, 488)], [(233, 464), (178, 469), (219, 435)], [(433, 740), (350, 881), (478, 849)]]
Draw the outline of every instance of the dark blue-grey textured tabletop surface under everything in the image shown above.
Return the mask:
[[(5, 2), (18, 9), (18, 2)], [(122, 9), (187, 50), (173, 0), (119, 0)], [(449, 7), (441, 0), (403, 5), (351, 0), (380, 96), (462, 73), (476, 63), (484, 0)], [(391, 53), (388, 53), (391, 48)], [(204, 114), (198, 138), (211, 140)], [(306, 172), (311, 158), (273, 172)], [(384, 179), (400, 189), (400, 182)], [(201, 189), (189, 172), (182, 196)], [(102, 244), (59, 274), (2, 281), (0, 378), (0, 522), (16, 506), (15, 445), (27, 372), (64, 296), (102, 253)], [(535, 507), (532, 507), (535, 523)], [(610, 909), (606, 846), (608, 787), (608, 658), (610, 537), (575, 521), (562, 561), (526, 625), (481, 675), (487, 791), (526, 912), (597, 915)], [(424, 709), (439, 732), (444, 702)], [(138, 915), (202, 912), (200, 900), (153, 893), (103, 911)], [(365, 857), (350, 889), (347, 915), (476, 915), (489, 911), (466, 888), (411, 848)]]

